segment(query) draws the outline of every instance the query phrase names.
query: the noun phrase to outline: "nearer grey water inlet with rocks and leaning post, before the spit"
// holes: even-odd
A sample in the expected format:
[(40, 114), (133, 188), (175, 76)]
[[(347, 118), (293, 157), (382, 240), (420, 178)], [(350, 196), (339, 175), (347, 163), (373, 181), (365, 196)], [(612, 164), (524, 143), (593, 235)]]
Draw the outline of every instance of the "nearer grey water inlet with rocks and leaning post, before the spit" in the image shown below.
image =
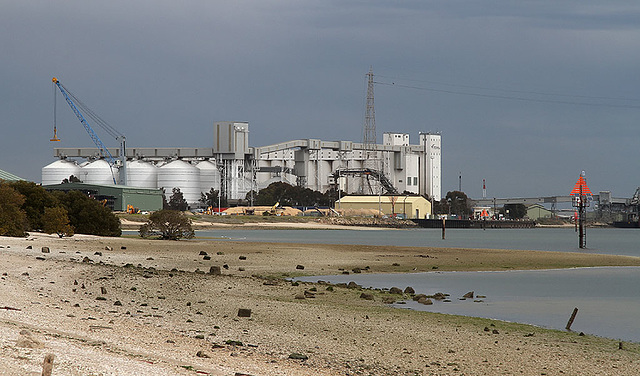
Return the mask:
[[(503, 272), (351, 274), (298, 278), (331, 283), (355, 281), (365, 287), (413, 287), (427, 295), (444, 292), (451, 302), (425, 306), (410, 301), (400, 308), (487, 317), (564, 329), (578, 307), (572, 330), (640, 342), (640, 268), (582, 268)], [(459, 300), (469, 291), (483, 302)]]

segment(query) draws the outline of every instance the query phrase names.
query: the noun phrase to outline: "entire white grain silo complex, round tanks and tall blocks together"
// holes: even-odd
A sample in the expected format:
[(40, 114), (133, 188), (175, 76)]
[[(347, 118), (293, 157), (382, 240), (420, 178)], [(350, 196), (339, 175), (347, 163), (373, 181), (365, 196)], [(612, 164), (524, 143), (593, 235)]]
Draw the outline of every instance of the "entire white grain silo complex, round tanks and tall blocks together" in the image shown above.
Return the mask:
[[(216, 122), (210, 148), (127, 148), (126, 169), (121, 169), (126, 176), (96, 148), (55, 148), (58, 160), (42, 168), (42, 184), (59, 184), (74, 175), (95, 184), (163, 188), (167, 197), (178, 187), (192, 206), (211, 188), (229, 200), (243, 200), (249, 191), (275, 181), (321, 192), (339, 187), (349, 194), (410, 192), (440, 200), (439, 133), (420, 133), (417, 145), (410, 144), (408, 134), (384, 133), (383, 143), (368, 153), (363, 145), (306, 139), (249, 147), (248, 123)], [(120, 158), (120, 149), (109, 151)], [(365, 163), (365, 155), (373, 161)]]

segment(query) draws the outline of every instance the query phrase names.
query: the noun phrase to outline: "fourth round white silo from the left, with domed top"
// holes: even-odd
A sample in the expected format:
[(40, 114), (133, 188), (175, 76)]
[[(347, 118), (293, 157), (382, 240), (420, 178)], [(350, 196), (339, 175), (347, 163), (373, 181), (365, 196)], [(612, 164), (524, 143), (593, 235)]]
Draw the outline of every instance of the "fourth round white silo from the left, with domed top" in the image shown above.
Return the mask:
[(158, 188), (164, 188), (167, 201), (176, 187), (180, 188), (187, 203), (197, 203), (200, 200), (200, 170), (179, 159), (158, 168)]

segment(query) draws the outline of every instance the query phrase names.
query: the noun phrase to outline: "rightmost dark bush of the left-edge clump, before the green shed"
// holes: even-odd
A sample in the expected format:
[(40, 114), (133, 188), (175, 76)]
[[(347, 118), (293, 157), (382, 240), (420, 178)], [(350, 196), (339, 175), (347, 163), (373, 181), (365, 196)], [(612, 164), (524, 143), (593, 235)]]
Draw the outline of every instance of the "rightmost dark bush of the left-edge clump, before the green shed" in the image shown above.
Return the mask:
[(67, 210), (69, 223), (77, 234), (120, 236), (120, 220), (111, 209), (80, 191), (53, 192)]

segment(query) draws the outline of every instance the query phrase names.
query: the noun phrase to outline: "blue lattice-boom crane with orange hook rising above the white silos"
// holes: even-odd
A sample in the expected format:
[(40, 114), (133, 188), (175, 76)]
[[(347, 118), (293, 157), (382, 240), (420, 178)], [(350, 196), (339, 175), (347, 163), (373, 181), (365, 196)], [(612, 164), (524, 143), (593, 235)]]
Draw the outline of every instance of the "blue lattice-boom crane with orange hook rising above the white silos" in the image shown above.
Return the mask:
[[(80, 102), (78, 100), (78, 98), (76, 98), (66, 87), (64, 87), (64, 85), (62, 85), (60, 83), (60, 81), (58, 81), (57, 78), (53, 77), (53, 79), (51, 81), (53, 81), (53, 83), (56, 86), (58, 86), (58, 89), (60, 89), (60, 92), (62, 93), (62, 96), (64, 96), (64, 99), (69, 104), (69, 107), (71, 107), (71, 110), (76, 115), (78, 120), (80, 120), (80, 123), (82, 123), (82, 125), (84, 126), (84, 129), (87, 131), (87, 133), (89, 133), (89, 137), (91, 137), (91, 140), (93, 140), (93, 143), (96, 144), (96, 147), (98, 148), (98, 151), (99, 151), (100, 155), (109, 162), (109, 166), (112, 168), (111, 175), (113, 177), (113, 183), (114, 184), (118, 183), (116, 181), (115, 176), (113, 175), (113, 166), (116, 165), (116, 159), (113, 157), (113, 155), (111, 155), (111, 152), (104, 145), (102, 140), (100, 140), (100, 137), (98, 137), (96, 132), (93, 131), (93, 128), (91, 128), (91, 126), (89, 125), (87, 120), (84, 118), (84, 116), (82, 115), (82, 112), (80, 112), (80, 110), (76, 106), (75, 102), (78, 102), (78, 105), (81, 106), (89, 116), (91, 116), (94, 120), (96, 120), (98, 125), (100, 125), (105, 131), (107, 131), (107, 133), (109, 133), (111, 136), (113, 136), (116, 140), (120, 141), (120, 160), (121, 160), (121, 164), (122, 164), (122, 166), (121, 166), (121, 168), (122, 168), (122, 170), (121, 170), (122, 179), (120, 179), (120, 180), (121, 180), (121, 183), (123, 185), (126, 185), (127, 184), (127, 171), (126, 171), (126, 166), (127, 166), (126, 161), (127, 160), (126, 160), (126, 153), (125, 153), (126, 152), (126, 146), (125, 146), (126, 138), (124, 137), (124, 135), (122, 133), (118, 132), (115, 128), (111, 127), (104, 120), (100, 119), (95, 113), (93, 113), (93, 111), (91, 111), (88, 107), (86, 107), (84, 104), (82, 104), (82, 102)], [(75, 102), (74, 102), (74, 100), (72, 98), (75, 99)], [(56, 136), (55, 133), (56, 132), (55, 132), (55, 125), (54, 125), (54, 139), (52, 139), (51, 141), (59, 141), (59, 139), (57, 139), (57, 136)]]

